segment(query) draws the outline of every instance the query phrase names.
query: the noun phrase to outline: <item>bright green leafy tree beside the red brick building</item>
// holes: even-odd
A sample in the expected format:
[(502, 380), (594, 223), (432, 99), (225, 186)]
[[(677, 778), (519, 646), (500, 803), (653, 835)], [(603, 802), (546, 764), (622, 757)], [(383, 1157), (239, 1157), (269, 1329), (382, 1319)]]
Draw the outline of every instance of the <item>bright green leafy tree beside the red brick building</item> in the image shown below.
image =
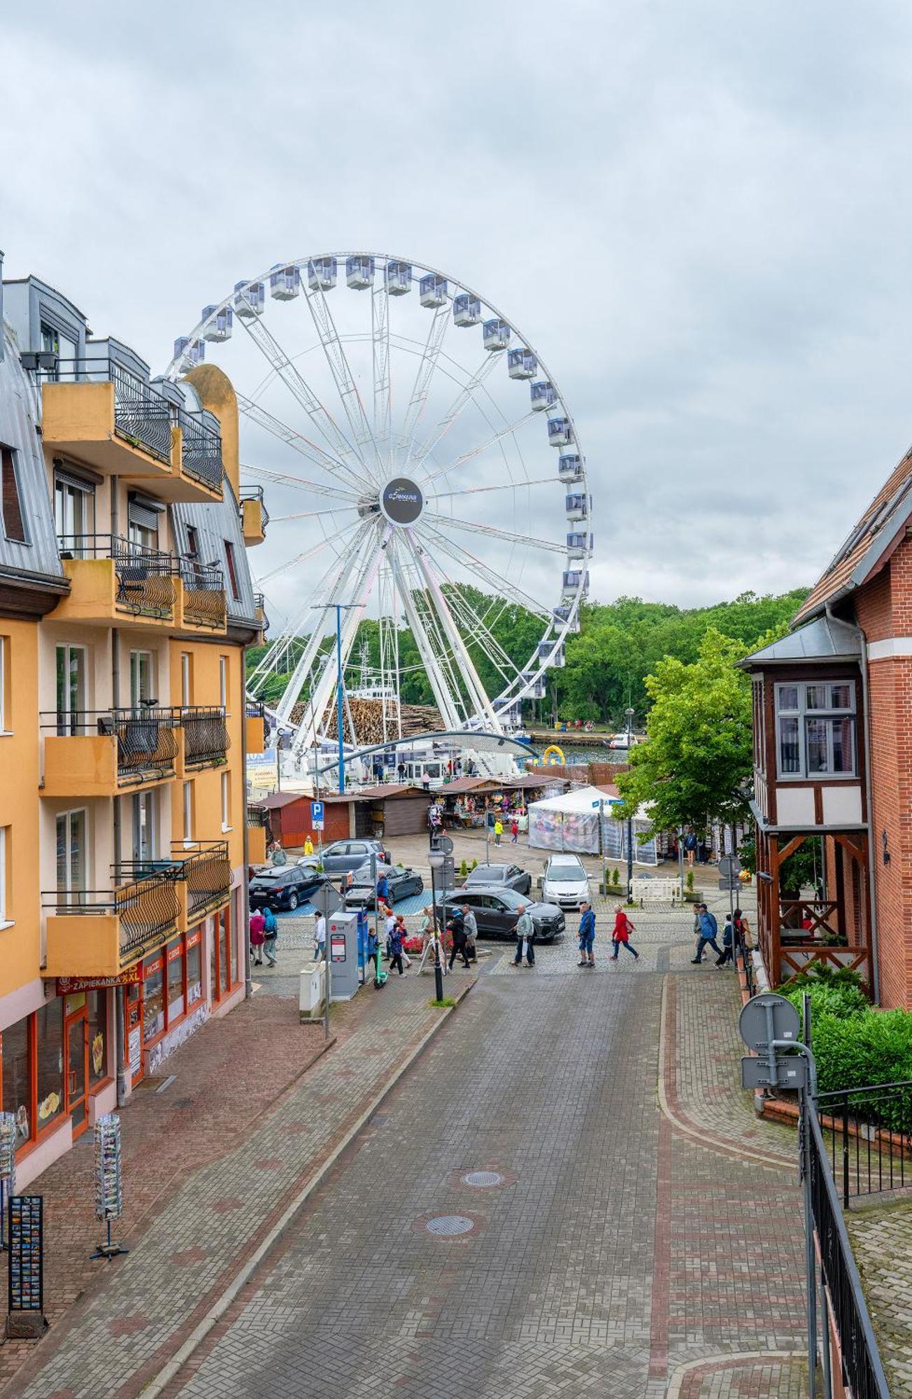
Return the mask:
[(690, 665), (660, 660), (646, 677), (648, 741), (618, 778), (621, 814), (649, 804), (659, 830), (743, 817), (751, 771), (751, 693), (736, 669), (744, 645), (711, 627)]

